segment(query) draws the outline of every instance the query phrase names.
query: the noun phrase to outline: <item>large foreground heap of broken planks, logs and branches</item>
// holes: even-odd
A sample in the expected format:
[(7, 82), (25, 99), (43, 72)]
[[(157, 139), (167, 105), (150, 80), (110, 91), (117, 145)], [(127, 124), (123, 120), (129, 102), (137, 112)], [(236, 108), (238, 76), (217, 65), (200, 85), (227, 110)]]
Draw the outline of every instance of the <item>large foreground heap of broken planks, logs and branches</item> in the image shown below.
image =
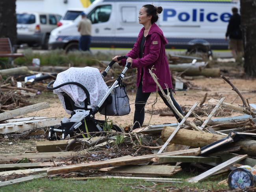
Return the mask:
[[(40, 177), (78, 180), (111, 177), (197, 183), (230, 170), (243, 171), (241, 165), (253, 170), (256, 165), (256, 160), (251, 158), (256, 154), (256, 107), (249, 105), (248, 100), (245, 102), (239, 90), (228, 79), (222, 78), (240, 96), (243, 107), (224, 103), (224, 97), (211, 99), (209, 103), (215, 106), (211, 107), (212, 111), (205, 120), (198, 114), (195, 121), (187, 120), (200, 103), (196, 102), (179, 124), (142, 127), (128, 133), (102, 132), (99, 137), (82, 139), (76, 135), (68, 140), (37, 142), (37, 153), (0, 154), (0, 186)], [(203, 103), (199, 107), (203, 107)], [(33, 108), (30, 111), (47, 107), (46, 103), (39, 105), (30, 106)], [(221, 106), (245, 115), (211, 120)], [(46, 127), (49, 126), (46, 122), (54, 125), (60, 121), (56, 118), (8, 120), (29, 111), (24, 108), (0, 114), (0, 121), (6, 121), (0, 124), (0, 134), (35, 129), (39, 127), (37, 124)], [(170, 178), (188, 165), (206, 170), (187, 179)], [(19, 168), (22, 170), (17, 170)], [(245, 174), (254, 178), (253, 171)], [(243, 188), (252, 186), (254, 181), (250, 183), (231, 174), (223, 183), (228, 183), (231, 188)]]

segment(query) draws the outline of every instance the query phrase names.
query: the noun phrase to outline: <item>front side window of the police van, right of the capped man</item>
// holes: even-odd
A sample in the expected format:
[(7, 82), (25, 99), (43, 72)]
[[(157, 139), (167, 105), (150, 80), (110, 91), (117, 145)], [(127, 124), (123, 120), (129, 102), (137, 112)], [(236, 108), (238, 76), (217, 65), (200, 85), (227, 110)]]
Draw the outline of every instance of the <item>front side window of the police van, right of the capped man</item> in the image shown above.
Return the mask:
[(91, 13), (88, 14), (89, 18), (94, 23), (107, 22), (111, 14), (111, 5), (98, 6)]

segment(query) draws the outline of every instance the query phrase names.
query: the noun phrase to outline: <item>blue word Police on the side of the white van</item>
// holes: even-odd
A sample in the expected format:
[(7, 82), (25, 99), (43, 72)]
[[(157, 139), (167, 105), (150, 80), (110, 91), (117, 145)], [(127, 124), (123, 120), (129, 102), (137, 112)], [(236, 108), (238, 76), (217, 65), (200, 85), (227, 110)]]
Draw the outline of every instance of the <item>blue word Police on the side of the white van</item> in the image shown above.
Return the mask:
[(218, 15), (216, 12), (205, 13), (204, 9), (192, 9), (191, 13), (180, 12), (177, 13), (175, 9), (163, 9), (163, 21), (167, 21), (168, 18), (173, 18), (178, 16), (178, 20), (182, 22), (193, 21), (193, 22), (204, 22), (205, 20), (209, 22), (216, 22), (221, 20), (223, 22), (228, 22), (231, 17), (230, 13), (221, 13)]

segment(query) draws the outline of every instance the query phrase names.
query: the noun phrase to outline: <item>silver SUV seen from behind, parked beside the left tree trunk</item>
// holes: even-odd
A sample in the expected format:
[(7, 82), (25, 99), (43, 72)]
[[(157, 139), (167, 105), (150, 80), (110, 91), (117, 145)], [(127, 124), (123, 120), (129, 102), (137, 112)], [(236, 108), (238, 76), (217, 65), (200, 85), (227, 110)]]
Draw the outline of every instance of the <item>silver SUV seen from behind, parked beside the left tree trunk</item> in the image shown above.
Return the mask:
[(17, 13), (17, 42), (48, 48), (48, 40), (61, 15), (54, 13)]

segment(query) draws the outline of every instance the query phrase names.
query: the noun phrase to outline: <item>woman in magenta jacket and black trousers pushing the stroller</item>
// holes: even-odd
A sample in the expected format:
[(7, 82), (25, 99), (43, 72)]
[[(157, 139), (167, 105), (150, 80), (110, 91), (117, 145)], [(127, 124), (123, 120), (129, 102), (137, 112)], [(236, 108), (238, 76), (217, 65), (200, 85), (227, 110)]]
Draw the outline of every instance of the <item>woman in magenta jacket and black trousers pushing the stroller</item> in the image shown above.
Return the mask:
[[(149, 70), (153, 67), (154, 74), (158, 77), (158, 82), (164, 89), (165, 94), (170, 92), (173, 104), (178, 111), (183, 115), (180, 105), (174, 100), (172, 95), (173, 85), (171, 81), (171, 74), (169, 71), (168, 61), (165, 54), (165, 44), (167, 39), (163, 36), (163, 32), (156, 25), (158, 20), (158, 13), (162, 12), (162, 7), (155, 7), (153, 5), (145, 5), (139, 10), (139, 23), (143, 24), (143, 28), (139, 32), (136, 43), (132, 50), (126, 55), (127, 62), (132, 64), (132, 67), (137, 68), (137, 93), (135, 98), (135, 113), (134, 113), (134, 126), (133, 129), (141, 127), (145, 117), (145, 104), (151, 92), (156, 91), (156, 83), (151, 77)], [(117, 61), (117, 57), (113, 58), (114, 61), (125, 65), (126, 61)], [(168, 90), (167, 88), (168, 87)], [(161, 91), (158, 93), (165, 102), (165, 104), (173, 111), (167, 100), (164, 98)], [(179, 116), (173, 111), (174, 116), (180, 122)]]

